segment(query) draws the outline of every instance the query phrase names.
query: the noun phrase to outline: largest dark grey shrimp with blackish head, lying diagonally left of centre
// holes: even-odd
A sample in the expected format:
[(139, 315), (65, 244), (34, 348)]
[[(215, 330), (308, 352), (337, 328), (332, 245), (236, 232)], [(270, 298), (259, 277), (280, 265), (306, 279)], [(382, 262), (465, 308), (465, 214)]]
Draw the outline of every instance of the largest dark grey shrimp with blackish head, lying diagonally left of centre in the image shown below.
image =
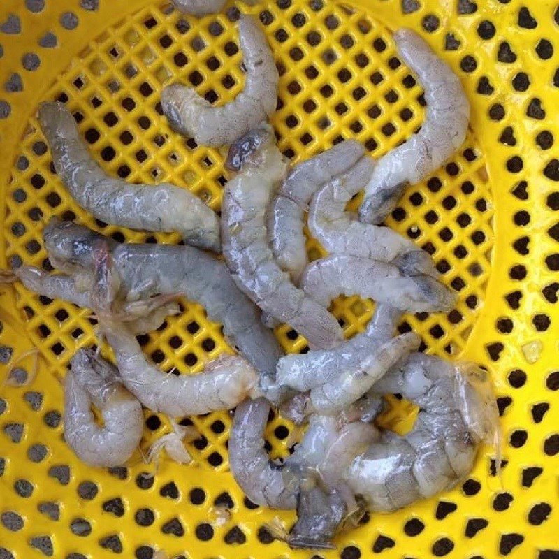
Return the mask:
[[(99, 233), (72, 222), (51, 219), (43, 233), (52, 263), (71, 275), (91, 275)], [(261, 313), (235, 285), (224, 263), (189, 246), (120, 245), (112, 242), (112, 267), (119, 277), (119, 298), (143, 300), (180, 293), (205, 307), (210, 320), (221, 322), (224, 333), (261, 375), (266, 391), (275, 379), (283, 351), (263, 326)], [(277, 395), (266, 392), (270, 399)]]

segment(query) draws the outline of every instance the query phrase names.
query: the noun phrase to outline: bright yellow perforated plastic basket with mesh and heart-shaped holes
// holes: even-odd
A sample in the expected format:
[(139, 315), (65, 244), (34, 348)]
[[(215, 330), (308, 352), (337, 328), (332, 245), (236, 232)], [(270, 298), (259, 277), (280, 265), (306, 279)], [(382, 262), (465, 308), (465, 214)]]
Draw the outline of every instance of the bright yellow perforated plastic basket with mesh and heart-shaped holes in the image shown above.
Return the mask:
[[(389, 219), (433, 254), (444, 281), (459, 292), (449, 314), (406, 322), (427, 351), (491, 370), (504, 433), (502, 486), (493, 475), (493, 452), (484, 449), (463, 485), (395, 514), (375, 514), (337, 537), (336, 551), (318, 556), (557, 559), (556, 3), (530, 2), (530, 11), (517, 0), (357, 0), (353, 6), (229, 4), (220, 15), (195, 20), (147, 0), (3, 1), (1, 264), (50, 269), (41, 230), (51, 215), (76, 217), (118, 240), (179, 240), (96, 223), (69, 200), (37, 130), (39, 101), (68, 101), (110, 173), (138, 182), (170, 180), (217, 210), (224, 152), (173, 133), (161, 116), (159, 92), (182, 80), (221, 103), (242, 89), (237, 8), (259, 15), (273, 48), (281, 75), (273, 125), (293, 162), (342, 137), (358, 138), (379, 156), (421, 125), (421, 88), (398, 61), (388, 28), (421, 31), (463, 81), (472, 133), (446, 167), (406, 192)], [(316, 242), (308, 247), (312, 258), (319, 256)], [(87, 310), (21, 286), (3, 289), (0, 305), (1, 559), (115, 553), (149, 559), (157, 550), (193, 559), (314, 555), (272, 542), (261, 528), (274, 516), (290, 525), (293, 513), (243, 499), (228, 473), (227, 413), (191, 419), (201, 433), (188, 445), (191, 466), (162, 460), (155, 472), (140, 453), (124, 469), (80, 464), (62, 437), (57, 379), (75, 349), (94, 342)], [(348, 298), (333, 310), (349, 336), (363, 330), (372, 305)], [(277, 335), (289, 351), (305, 346), (289, 328)], [(161, 368), (184, 374), (227, 349), (219, 324), (187, 302), (180, 317), (142, 341)], [(33, 347), (40, 350), (38, 375), (17, 386), (24, 376), (17, 370), (6, 382), (6, 364)], [(31, 373), (32, 362), (18, 366)], [(384, 424), (398, 429), (412, 410), (391, 401)], [(165, 418), (146, 413), (142, 448), (168, 429)], [(272, 419), (266, 431), (272, 456), (286, 455), (299, 435), (283, 419)], [(219, 512), (224, 505), (230, 516)]]

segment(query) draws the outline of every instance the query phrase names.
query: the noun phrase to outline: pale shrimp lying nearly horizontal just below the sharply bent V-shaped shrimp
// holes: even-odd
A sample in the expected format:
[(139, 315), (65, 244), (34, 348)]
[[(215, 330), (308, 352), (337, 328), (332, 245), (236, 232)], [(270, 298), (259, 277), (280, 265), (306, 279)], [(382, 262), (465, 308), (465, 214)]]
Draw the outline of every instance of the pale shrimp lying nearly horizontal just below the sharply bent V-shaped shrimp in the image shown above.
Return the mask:
[(372, 298), (407, 312), (450, 310), (456, 302), (456, 294), (433, 277), (406, 276), (394, 264), (343, 254), (311, 262), (301, 288), (324, 307), (342, 294)]

